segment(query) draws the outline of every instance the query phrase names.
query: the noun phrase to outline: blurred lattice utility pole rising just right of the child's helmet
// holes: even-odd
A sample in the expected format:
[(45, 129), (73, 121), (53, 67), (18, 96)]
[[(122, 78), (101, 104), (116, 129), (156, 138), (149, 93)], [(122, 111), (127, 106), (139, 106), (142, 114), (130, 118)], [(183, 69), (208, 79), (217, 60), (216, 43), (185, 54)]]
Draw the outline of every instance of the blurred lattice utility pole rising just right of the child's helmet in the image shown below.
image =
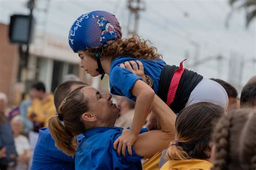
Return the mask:
[(130, 10), (127, 26), (128, 36), (137, 34), (139, 23), (139, 12), (146, 9), (145, 2), (141, 0), (128, 0), (128, 9)]

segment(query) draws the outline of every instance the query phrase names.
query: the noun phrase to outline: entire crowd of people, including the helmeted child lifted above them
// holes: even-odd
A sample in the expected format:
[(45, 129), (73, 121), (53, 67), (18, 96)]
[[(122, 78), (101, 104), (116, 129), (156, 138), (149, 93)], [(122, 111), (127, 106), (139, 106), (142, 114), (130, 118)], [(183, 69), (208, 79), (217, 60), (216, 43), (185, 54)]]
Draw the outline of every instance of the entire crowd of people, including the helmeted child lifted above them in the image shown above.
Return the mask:
[(109, 75), (111, 94), (66, 79), (52, 95), (36, 82), (8, 111), (0, 93), (0, 169), (256, 169), (256, 76), (239, 97), (122, 38), (106, 11), (78, 17), (69, 45), (85, 72)]

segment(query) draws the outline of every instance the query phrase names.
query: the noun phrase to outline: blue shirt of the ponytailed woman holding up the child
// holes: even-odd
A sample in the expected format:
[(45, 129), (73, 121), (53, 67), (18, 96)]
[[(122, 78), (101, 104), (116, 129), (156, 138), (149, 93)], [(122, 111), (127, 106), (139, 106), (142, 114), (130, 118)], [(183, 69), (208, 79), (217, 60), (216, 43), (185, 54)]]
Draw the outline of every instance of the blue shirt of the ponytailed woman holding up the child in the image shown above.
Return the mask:
[[(114, 141), (122, 134), (118, 127), (99, 127), (88, 130), (76, 152), (76, 169), (142, 169), (141, 157), (132, 148), (132, 156), (126, 148), (126, 157), (114, 150)], [(147, 132), (143, 128), (140, 133)]]

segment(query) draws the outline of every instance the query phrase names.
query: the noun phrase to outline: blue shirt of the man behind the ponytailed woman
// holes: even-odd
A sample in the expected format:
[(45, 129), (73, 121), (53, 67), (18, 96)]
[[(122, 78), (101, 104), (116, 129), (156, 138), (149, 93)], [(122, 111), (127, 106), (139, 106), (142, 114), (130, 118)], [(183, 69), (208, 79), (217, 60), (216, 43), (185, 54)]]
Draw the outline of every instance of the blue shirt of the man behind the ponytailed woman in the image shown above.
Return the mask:
[[(78, 141), (81, 138), (79, 136)], [(49, 129), (41, 128), (33, 153), (31, 169), (75, 169), (75, 158), (58, 150)]]

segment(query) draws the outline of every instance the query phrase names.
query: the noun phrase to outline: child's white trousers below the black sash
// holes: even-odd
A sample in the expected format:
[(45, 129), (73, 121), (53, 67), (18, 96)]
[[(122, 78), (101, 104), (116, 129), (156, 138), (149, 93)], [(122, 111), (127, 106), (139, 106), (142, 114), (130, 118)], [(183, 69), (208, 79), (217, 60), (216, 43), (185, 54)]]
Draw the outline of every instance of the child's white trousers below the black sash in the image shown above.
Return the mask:
[(219, 83), (210, 79), (203, 79), (190, 94), (186, 107), (198, 102), (212, 102), (227, 109), (228, 96), (225, 89)]

